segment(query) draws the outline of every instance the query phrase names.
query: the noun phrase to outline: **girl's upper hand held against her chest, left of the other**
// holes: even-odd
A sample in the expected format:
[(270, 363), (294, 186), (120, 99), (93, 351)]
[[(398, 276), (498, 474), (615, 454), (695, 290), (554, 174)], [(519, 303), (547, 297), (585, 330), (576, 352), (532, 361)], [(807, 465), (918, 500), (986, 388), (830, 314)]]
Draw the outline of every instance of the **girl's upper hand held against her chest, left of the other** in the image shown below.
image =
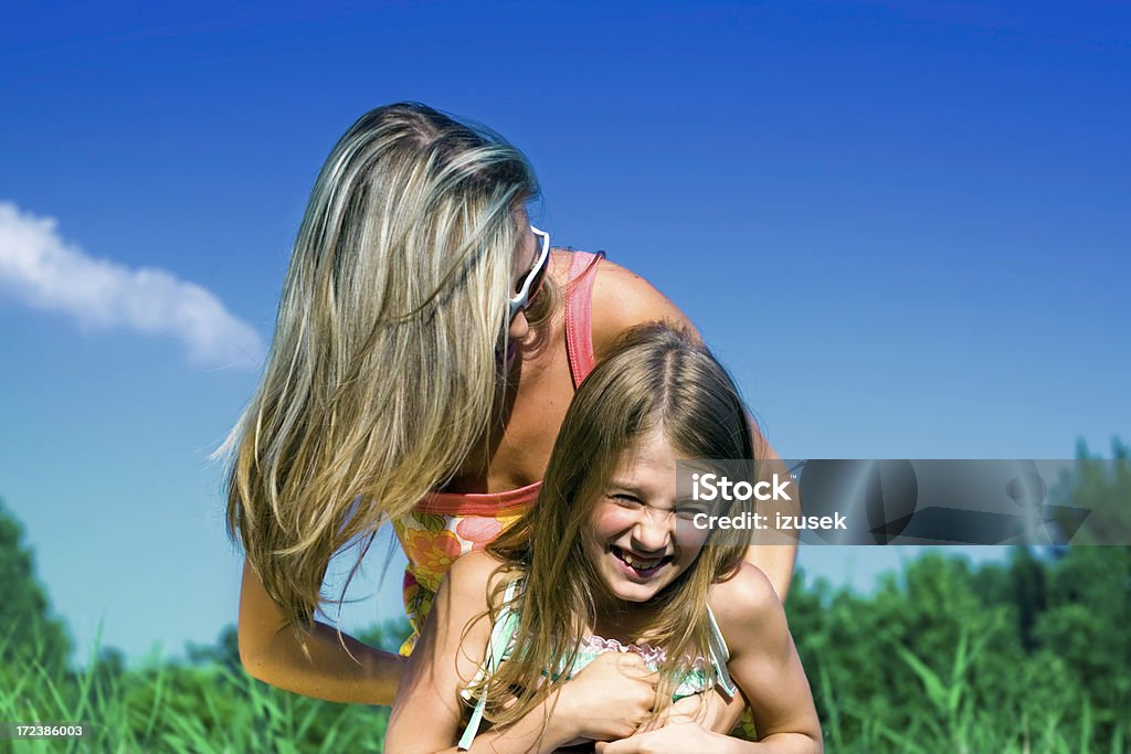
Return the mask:
[(651, 713), (658, 675), (632, 652), (606, 652), (562, 685), (552, 716), (571, 737), (616, 740)]

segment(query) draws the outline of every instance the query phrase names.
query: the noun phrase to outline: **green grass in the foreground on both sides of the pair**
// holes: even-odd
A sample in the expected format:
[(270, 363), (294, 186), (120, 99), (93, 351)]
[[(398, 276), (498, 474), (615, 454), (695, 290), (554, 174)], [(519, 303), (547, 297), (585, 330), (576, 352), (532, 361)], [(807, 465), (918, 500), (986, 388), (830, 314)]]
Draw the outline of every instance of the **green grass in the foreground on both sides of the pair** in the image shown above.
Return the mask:
[[(910, 699), (861, 700), (832, 688), (827, 673), (811, 674), (822, 708), (830, 753), (875, 754), (1081, 754), (1124, 751), (1122, 725), (1107, 743), (1095, 738), (1087, 704), (1082, 725), (1062, 725), (1061, 713), (1017, 718), (973, 701), (970, 670), (984, 642), (964, 632), (950, 670), (936, 673), (910, 651), (899, 652), (917, 678)], [(112, 664), (111, 664), (112, 665)], [(895, 728), (878, 709), (923, 710)], [(388, 710), (333, 704), (273, 688), (222, 662), (187, 666), (153, 658), (122, 670), (97, 656), (78, 674), (44, 669), (34, 657), (20, 671), (0, 671), (0, 720), (83, 721), (77, 740), (0, 742), (14, 752), (170, 752), (173, 754), (279, 752), (280, 754), (380, 752)]]

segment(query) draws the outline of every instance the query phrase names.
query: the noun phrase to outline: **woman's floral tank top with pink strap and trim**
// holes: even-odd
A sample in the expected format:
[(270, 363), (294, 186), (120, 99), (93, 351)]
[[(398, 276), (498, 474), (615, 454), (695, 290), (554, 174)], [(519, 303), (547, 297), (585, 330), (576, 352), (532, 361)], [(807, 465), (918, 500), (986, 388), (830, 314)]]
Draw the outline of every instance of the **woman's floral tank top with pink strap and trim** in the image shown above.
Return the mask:
[[(571, 254), (566, 286), (566, 353), (573, 388), (593, 371), (593, 280), (603, 252)], [(500, 493), (437, 492), (394, 522), (408, 557), (405, 567), (405, 613), (413, 633), (400, 648), (412, 652), (440, 580), (457, 557), (483, 549), (513, 523), (538, 497), (541, 482)]]

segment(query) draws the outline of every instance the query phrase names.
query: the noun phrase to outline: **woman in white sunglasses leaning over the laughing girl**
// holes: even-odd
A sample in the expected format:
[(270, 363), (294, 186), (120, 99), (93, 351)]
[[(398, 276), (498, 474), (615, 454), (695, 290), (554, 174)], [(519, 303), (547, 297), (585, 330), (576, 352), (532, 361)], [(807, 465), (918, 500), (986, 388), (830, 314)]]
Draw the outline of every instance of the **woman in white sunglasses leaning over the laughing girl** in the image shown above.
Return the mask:
[[(314, 619), (330, 557), (391, 520), (415, 635), (451, 561), (536, 497), (594, 363), (632, 326), (690, 327), (628, 270), (551, 252), (525, 210), (537, 192), (520, 151), (420, 104), (366, 113), (331, 151), (262, 381), (230, 439), (252, 676), (390, 703), (403, 658)], [(784, 598), (794, 553), (752, 547), (748, 560)]]

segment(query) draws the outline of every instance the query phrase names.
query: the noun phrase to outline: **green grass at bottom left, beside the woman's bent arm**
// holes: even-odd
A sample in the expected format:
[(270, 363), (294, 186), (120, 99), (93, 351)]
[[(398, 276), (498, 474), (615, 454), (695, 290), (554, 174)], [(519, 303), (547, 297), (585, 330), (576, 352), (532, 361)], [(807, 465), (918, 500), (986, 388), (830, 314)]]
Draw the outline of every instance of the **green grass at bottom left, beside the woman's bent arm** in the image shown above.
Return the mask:
[(87, 726), (80, 739), (0, 742), (19, 753), (381, 752), (388, 709), (299, 696), (221, 662), (123, 670), (95, 656), (76, 674), (27, 656), (0, 669), (0, 720)]

